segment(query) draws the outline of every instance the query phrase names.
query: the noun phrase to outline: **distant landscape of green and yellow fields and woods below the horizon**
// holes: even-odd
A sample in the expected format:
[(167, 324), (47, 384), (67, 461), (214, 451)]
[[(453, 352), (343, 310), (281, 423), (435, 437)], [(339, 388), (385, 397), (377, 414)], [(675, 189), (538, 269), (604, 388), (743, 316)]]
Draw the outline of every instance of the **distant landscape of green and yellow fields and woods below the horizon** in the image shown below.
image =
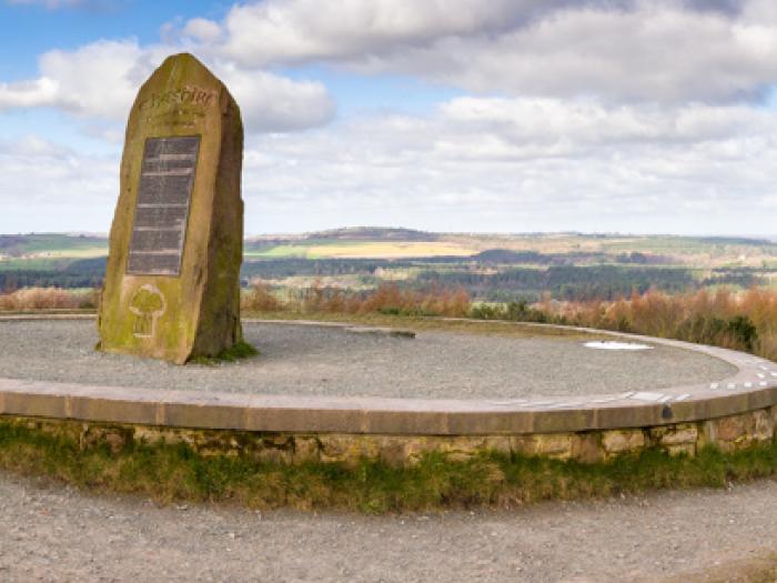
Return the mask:
[[(0, 235), (0, 289), (99, 285), (104, 237)], [(402, 287), (464, 288), (480, 301), (612, 299), (657, 288), (775, 287), (777, 244), (743, 238), (465, 234), (401, 229), (342, 229), (250, 238), (243, 283), (260, 278), (276, 291), (310, 287), (364, 291)]]

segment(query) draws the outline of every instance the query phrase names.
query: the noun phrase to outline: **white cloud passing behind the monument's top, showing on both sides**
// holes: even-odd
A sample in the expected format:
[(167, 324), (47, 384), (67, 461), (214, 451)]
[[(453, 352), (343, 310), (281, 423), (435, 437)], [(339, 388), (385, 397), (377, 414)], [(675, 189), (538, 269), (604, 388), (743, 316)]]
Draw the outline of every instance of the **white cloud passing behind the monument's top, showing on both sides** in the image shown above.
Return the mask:
[[(0, 83), (0, 111), (53, 107), (81, 118), (123, 123), (143, 81), (178, 48), (141, 47), (134, 40), (97, 41), (40, 58), (38, 79)], [(293, 131), (327, 123), (335, 104), (323, 84), (229, 62), (211, 63), (241, 105), (246, 131)]]

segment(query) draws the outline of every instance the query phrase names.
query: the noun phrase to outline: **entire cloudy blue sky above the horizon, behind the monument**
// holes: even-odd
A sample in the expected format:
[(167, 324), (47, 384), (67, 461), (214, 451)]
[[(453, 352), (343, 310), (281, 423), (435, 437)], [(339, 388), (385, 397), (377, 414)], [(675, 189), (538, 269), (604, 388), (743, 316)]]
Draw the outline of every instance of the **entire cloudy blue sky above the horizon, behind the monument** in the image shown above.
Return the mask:
[(777, 234), (774, 0), (0, 0), (0, 232), (107, 232), (181, 51), (241, 107), (248, 233)]

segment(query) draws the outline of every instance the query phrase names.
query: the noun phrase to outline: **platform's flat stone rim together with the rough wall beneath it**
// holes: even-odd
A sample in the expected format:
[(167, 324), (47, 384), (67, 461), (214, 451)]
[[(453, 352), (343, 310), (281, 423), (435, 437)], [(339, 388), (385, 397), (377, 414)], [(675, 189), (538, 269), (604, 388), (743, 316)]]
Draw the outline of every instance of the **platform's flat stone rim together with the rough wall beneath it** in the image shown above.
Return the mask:
[[(281, 451), (290, 461), (299, 459), (292, 455), (297, 449), (346, 461), (375, 455), (404, 463), (428, 450), (466, 456), (484, 449), (594, 461), (649, 446), (693, 454), (709, 443), (730, 450), (774, 438), (777, 364), (713, 346), (614, 335), (703, 352), (737, 373), (708, 385), (542, 401), (203, 393), (0, 379), (0, 415), (74, 423), (91, 435), (84, 443), (103, 433), (114, 442), (117, 435), (181, 439), (206, 450), (248, 440), (260, 444), (255, 454)], [(243, 439), (226, 439), (235, 433)]]

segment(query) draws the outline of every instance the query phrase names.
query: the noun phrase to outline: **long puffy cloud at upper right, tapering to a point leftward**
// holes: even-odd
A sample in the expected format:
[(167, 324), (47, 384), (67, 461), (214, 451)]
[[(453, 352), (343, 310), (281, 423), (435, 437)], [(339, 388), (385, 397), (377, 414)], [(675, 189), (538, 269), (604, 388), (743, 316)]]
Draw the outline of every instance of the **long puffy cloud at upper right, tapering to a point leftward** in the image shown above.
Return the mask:
[(482, 92), (729, 101), (777, 80), (777, 27), (667, 7), (568, 10), (496, 39), (445, 39), (365, 67), (428, 67), (434, 79)]

